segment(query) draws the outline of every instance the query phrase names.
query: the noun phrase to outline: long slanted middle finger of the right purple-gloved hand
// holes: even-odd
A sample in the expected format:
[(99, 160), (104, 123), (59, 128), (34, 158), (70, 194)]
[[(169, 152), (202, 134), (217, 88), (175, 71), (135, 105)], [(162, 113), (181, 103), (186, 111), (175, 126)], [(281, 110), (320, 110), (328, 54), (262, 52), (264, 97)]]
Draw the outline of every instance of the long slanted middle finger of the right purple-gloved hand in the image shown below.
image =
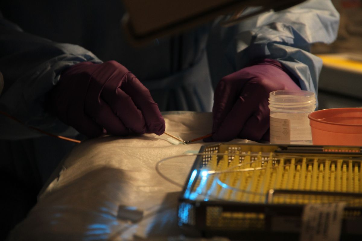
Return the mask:
[(248, 105), (251, 105), (251, 103), (246, 102), (240, 96), (219, 127), (214, 130), (212, 139), (214, 141), (231, 141), (236, 138), (243, 129), (245, 122), (253, 115), (250, 111), (245, 111), (250, 110)]

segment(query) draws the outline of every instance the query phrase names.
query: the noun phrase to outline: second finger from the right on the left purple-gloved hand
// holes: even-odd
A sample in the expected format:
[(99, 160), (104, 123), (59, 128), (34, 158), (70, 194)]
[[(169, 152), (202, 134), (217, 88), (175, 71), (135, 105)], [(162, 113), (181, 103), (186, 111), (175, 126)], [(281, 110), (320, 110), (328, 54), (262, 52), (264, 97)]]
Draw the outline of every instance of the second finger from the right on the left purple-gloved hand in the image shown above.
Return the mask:
[(146, 132), (146, 122), (142, 112), (135, 106), (132, 98), (123, 90), (117, 88), (116, 91), (104, 88), (102, 98), (110, 106), (115, 115), (123, 122), (123, 124), (132, 130), (132, 132), (143, 134)]

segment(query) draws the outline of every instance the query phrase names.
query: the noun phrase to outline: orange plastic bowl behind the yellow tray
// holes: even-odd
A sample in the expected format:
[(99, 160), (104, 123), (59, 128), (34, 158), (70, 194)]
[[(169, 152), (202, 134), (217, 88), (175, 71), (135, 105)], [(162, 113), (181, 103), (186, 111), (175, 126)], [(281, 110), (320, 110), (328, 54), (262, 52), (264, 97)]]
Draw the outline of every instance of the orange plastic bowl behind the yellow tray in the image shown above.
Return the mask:
[(321, 109), (308, 118), (313, 145), (362, 146), (362, 108)]

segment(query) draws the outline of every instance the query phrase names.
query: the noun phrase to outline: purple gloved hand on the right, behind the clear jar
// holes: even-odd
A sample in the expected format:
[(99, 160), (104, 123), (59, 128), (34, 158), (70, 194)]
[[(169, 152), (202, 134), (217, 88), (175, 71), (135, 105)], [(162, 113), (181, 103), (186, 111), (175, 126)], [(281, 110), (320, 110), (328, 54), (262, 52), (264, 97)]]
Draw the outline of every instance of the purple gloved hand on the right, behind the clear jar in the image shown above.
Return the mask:
[(275, 60), (265, 59), (223, 77), (214, 94), (213, 135), (205, 141), (269, 140), (268, 99), (275, 90), (300, 90)]

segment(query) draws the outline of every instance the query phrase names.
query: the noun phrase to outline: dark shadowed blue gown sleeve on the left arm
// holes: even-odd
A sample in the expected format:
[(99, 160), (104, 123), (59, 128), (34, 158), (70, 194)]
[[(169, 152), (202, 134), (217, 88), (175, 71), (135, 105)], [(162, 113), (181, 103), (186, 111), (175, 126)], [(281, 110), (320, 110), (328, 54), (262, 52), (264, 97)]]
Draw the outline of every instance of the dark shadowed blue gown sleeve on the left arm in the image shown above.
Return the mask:
[[(3, 18), (0, 22), (4, 21)], [(25, 124), (53, 133), (65, 133), (68, 127), (50, 115), (46, 94), (58, 82), (67, 67), (83, 61), (101, 63), (88, 50), (72, 44), (54, 43), (0, 23), (0, 71), (4, 89), (0, 110)], [(18, 123), (0, 116), (0, 138), (29, 138), (40, 136), (32, 130), (18, 132)]]

